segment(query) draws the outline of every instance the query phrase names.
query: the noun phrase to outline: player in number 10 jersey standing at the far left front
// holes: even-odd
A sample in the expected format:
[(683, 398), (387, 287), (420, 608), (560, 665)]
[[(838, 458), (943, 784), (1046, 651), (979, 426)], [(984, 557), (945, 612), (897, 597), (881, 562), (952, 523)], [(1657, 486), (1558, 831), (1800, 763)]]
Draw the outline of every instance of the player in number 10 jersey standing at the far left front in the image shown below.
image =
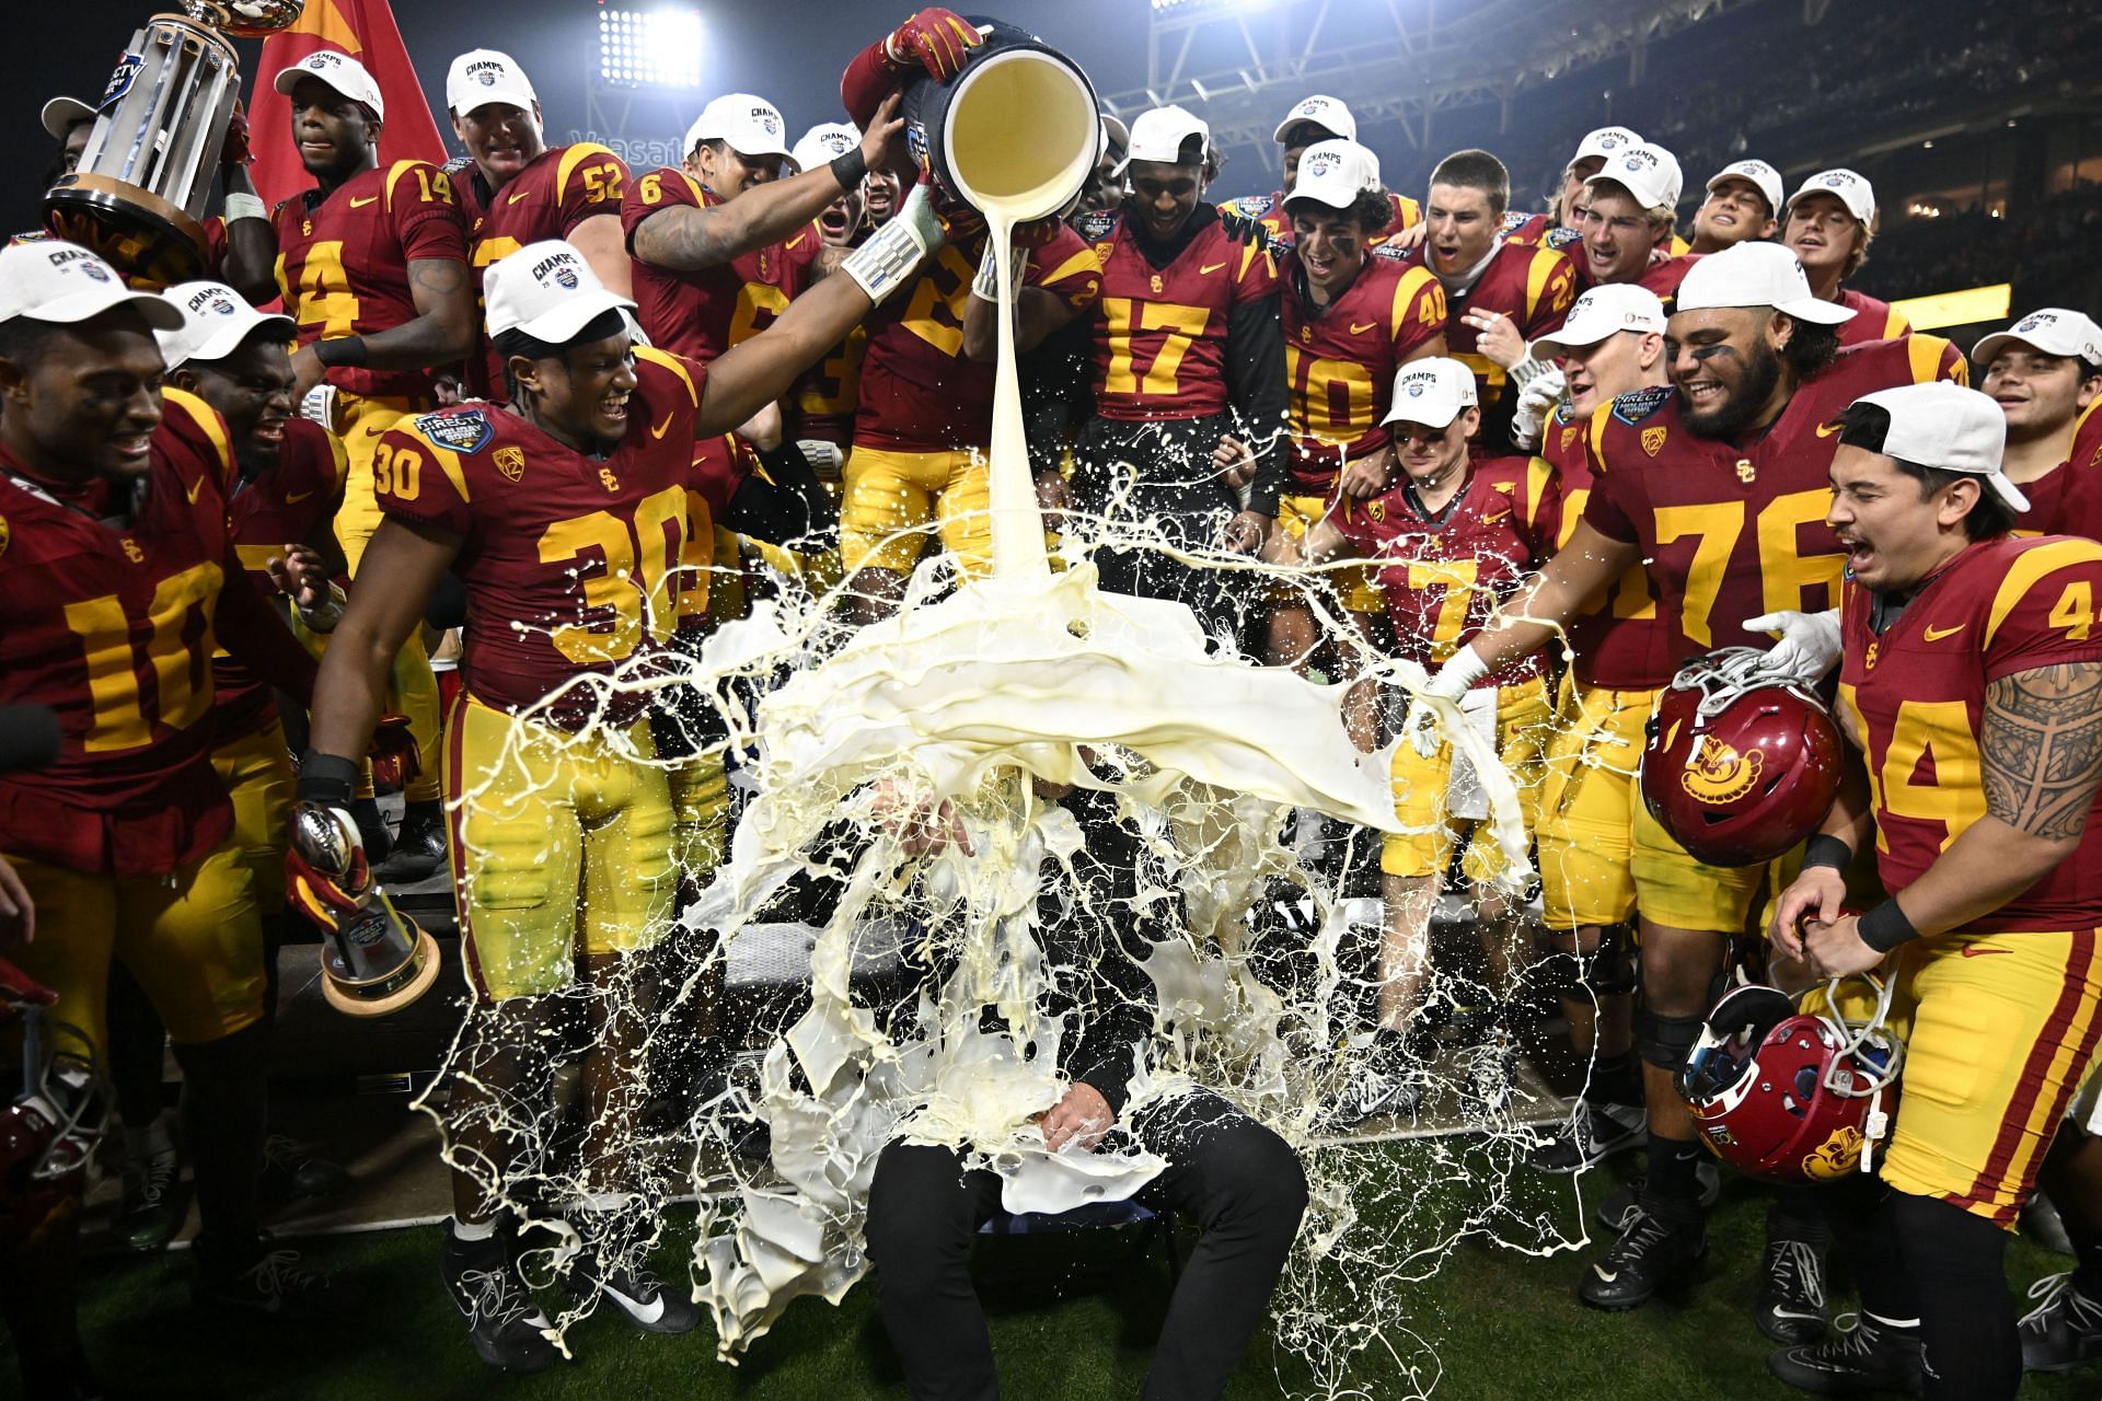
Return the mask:
[[(63, 1048), (92, 1061), (124, 962), (183, 1067), (198, 1300), (305, 1311), (328, 1302), (322, 1281), (254, 1216), (263, 930), (210, 765), (210, 653), (217, 636), (296, 695), (313, 660), (240, 582), (225, 422), (162, 386), (153, 332), (181, 321), (74, 244), (0, 250), (0, 702), (50, 706), (63, 727), (55, 765), (0, 775), (0, 853), (38, 916), (11, 956), (57, 989)], [(311, 603), (313, 576), (282, 578)], [(6, 1273), (69, 1290), (71, 1231), (44, 1250)]]

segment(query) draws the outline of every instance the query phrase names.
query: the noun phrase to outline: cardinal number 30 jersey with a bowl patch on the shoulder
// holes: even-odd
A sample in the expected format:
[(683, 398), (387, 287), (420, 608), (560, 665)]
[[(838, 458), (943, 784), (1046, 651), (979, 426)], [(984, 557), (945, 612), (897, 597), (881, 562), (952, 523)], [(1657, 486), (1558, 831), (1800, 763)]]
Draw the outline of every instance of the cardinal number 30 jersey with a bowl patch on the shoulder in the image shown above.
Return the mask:
[[(628, 428), (603, 460), (477, 403), (380, 439), (380, 510), (462, 542), (452, 565), (469, 609), (460, 676), (477, 699), (521, 712), (671, 636), (704, 376), (675, 355), (637, 351)], [(574, 727), (595, 706), (578, 687), (536, 716)], [(624, 725), (643, 706), (622, 693), (605, 718)]]

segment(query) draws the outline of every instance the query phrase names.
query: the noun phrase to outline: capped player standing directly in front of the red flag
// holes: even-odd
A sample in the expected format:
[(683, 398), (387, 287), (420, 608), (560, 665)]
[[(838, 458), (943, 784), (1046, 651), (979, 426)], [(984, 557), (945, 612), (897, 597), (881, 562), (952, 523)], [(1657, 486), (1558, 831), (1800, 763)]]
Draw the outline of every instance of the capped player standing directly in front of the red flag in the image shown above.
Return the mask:
[[(326, 384), (334, 399), (328, 426), (351, 460), (336, 540), (355, 578), (380, 521), (372, 483), (380, 435), (435, 407), (435, 370), (475, 349), (467, 225), (444, 170), (420, 160), (380, 164), (387, 113), (362, 63), (324, 48), (277, 74), (275, 88), (292, 99), (292, 141), (315, 179), (275, 212), (277, 286), (298, 321), (292, 393), (305, 401)], [(420, 632), (395, 666), (393, 708), (416, 737), (416, 775), (404, 786), (399, 855), (387, 874), (420, 878), (446, 859), (437, 681)], [(366, 821), (368, 840), (385, 834), (370, 813)]]

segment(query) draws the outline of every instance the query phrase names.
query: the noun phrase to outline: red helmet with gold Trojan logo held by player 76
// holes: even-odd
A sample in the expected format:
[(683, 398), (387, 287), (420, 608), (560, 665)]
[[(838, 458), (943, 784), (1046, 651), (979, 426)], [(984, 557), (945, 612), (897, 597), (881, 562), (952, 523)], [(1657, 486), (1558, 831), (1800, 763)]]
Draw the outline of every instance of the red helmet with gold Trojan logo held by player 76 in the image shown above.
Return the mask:
[(1688, 662), (1650, 712), (1642, 800), (1709, 865), (1772, 861), (1816, 832), (1839, 794), (1839, 729), (1825, 702), (1747, 672), (1743, 660), (1757, 655), (1722, 647)]

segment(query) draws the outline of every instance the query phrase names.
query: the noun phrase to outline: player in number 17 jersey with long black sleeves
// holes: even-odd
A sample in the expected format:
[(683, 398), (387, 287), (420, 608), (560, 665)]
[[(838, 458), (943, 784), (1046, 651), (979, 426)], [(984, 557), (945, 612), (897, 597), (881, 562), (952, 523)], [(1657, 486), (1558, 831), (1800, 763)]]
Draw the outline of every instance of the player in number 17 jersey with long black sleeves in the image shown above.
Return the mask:
[[(1089, 321), (1095, 418), (1074, 447), (1072, 487), (1091, 515), (1131, 487), (1127, 504), (1177, 544), (1253, 552), (1284, 483), (1280, 250), (1259, 229), (1236, 237), (1221, 225), (1204, 202), (1215, 172), (1211, 128), (1181, 107), (1152, 107), (1131, 124), (1122, 208), (1074, 221), (1104, 273)], [(1251, 454), (1242, 500), (1223, 468)], [(1110, 550), (1099, 563), (1112, 592), (1179, 597), (1221, 626), (1234, 611), (1165, 555)]]

